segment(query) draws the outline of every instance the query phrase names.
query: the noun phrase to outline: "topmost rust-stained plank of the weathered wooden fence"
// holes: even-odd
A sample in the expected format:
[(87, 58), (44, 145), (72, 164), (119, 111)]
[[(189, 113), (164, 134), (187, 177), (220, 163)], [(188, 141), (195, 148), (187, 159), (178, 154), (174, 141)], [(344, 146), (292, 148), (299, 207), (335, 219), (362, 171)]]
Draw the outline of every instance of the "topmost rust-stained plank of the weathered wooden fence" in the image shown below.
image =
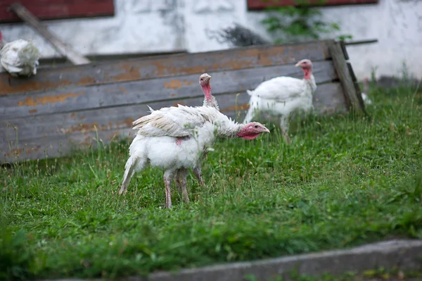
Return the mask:
[(0, 94), (46, 91), (63, 87), (129, 82), (270, 65), (294, 65), (302, 58), (309, 58), (315, 62), (325, 61), (331, 58), (328, 51), (330, 42), (332, 40), (274, 46), (248, 46), (224, 51), (153, 56), (97, 65), (79, 65), (71, 68), (39, 70), (37, 75), (25, 80), (10, 78), (6, 73), (1, 73)]

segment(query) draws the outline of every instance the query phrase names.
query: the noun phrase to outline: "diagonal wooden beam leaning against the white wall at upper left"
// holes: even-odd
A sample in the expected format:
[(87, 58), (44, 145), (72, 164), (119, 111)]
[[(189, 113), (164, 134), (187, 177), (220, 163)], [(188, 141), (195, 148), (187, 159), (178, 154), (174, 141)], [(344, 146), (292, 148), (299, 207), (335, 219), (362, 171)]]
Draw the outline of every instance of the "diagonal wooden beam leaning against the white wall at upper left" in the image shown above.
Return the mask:
[(25, 21), (30, 25), (34, 30), (36, 30), (42, 37), (49, 41), (54, 48), (63, 56), (66, 56), (69, 61), (75, 65), (91, 63), (89, 59), (78, 54), (76, 51), (73, 51), (72, 48), (66, 46), (58, 37), (53, 35), (49, 30), (44, 27), (41, 22), (34, 16), (30, 11), (27, 10), (24, 6), (19, 3), (14, 3), (10, 6), (11, 11), (18, 15), (19, 18)]

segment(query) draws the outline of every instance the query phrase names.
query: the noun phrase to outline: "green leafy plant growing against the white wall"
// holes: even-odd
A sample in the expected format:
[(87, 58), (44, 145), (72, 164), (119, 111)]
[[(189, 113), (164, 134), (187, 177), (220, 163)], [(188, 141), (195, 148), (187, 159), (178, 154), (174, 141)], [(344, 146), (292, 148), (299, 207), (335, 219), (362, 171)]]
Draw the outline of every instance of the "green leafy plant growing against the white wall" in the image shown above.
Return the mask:
[[(321, 11), (316, 6), (324, 4), (325, 0), (313, 3), (312, 6), (307, 0), (293, 1), (298, 6), (268, 7), (268, 16), (261, 21), (276, 44), (320, 39), (323, 34), (340, 31), (338, 23), (328, 23), (321, 19)], [(345, 40), (352, 39), (352, 36), (340, 35), (336, 38)]]

